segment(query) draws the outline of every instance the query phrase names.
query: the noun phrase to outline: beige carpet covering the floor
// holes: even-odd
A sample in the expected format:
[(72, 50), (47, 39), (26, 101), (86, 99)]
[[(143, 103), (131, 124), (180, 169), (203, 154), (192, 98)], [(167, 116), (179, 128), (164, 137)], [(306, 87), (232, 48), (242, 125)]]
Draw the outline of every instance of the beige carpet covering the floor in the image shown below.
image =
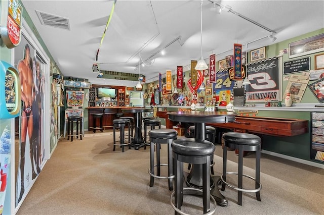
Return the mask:
[[(155, 179), (149, 187), (149, 148), (127, 147), (123, 153), (112, 147), (111, 130), (59, 141), (17, 214), (174, 214), (167, 181)], [(215, 175), (220, 175), (220, 145), (214, 160)], [(228, 151), (228, 171), (236, 171), (236, 162), (237, 155)], [(255, 154), (244, 158), (244, 166), (245, 173), (254, 176)], [(262, 201), (245, 193), (242, 206), (237, 205), (237, 192), (227, 187), (221, 192), (229, 203), (217, 205), (215, 214), (324, 214), (323, 176), (323, 169), (262, 154)], [(252, 188), (253, 183), (245, 180), (244, 187)], [(183, 209), (203, 213), (201, 198), (185, 195)]]

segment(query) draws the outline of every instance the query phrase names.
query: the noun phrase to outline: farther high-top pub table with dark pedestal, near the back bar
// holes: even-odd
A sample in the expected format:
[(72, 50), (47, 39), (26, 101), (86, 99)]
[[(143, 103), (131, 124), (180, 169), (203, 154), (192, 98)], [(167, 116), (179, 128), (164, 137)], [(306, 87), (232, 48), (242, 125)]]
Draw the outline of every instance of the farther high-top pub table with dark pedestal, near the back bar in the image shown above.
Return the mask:
[(134, 149), (139, 149), (144, 146), (144, 139), (142, 135), (142, 113), (144, 112), (153, 112), (153, 109), (143, 109), (143, 108), (134, 108), (134, 109), (121, 109), (123, 113), (132, 113), (135, 114), (135, 133), (134, 138), (132, 139), (131, 146)]

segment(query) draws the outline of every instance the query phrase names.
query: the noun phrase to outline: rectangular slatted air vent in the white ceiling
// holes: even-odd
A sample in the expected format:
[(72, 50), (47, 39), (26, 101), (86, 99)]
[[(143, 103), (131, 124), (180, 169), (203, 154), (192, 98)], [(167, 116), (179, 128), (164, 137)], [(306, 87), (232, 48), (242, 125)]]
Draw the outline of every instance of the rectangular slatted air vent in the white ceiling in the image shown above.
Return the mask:
[(41, 11), (36, 11), (36, 14), (39, 18), (39, 21), (41, 21), (42, 25), (70, 30), (70, 23), (67, 18), (56, 16), (53, 14), (48, 14)]

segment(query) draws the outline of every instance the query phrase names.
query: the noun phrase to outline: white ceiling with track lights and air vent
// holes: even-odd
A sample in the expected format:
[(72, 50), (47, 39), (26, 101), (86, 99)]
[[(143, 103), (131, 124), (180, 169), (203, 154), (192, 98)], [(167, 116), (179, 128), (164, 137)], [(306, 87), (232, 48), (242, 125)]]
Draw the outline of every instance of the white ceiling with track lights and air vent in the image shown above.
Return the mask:
[[(275, 42), (279, 42), (324, 27), (324, 1), (217, 0), (214, 2), (232, 10), (226, 12), (225, 8), (220, 14), (212, 2), (203, 2), (203, 57), (207, 63), (212, 53), (216, 53), (217, 61), (232, 55), (233, 43), (248, 43), (248, 51), (271, 44), (263, 38), (270, 34), (269, 30), (276, 32)], [(22, 4), (64, 76), (86, 78), (93, 84), (136, 85), (136, 81), (97, 78), (98, 73), (92, 72), (113, 1), (22, 0)], [(36, 11), (68, 19), (70, 30), (42, 25)], [(165, 56), (158, 53), (179, 36), (181, 40), (169, 45)], [(255, 40), (258, 41), (252, 42)], [(185, 67), (191, 60), (198, 60), (200, 1), (117, 0), (100, 46), (100, 69), (138, 74), (135, 68), (139, 53), (144, 61), (153, 56), (150, 66), (140, 68), (146, 82), (157, 80), (158, 73), (165, 77), (166, 70), (175, 74), (177, 66)]]

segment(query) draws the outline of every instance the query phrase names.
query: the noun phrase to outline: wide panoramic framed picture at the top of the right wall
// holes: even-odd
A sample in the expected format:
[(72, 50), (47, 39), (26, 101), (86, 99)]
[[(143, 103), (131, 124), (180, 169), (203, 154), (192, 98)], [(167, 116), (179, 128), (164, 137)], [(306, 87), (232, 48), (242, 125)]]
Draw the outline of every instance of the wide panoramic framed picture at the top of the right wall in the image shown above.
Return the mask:
[(289, 43), (289, 58), (324, 51), (324, 33)]

